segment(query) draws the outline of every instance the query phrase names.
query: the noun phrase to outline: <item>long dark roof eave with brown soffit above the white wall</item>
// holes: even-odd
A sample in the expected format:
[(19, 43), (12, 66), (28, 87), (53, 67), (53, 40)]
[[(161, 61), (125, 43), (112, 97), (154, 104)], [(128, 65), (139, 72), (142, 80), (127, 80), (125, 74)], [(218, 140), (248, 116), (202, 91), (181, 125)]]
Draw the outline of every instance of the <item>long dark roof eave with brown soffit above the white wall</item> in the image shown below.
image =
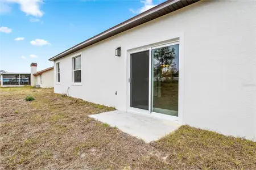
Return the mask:
[(142, 12), (141, 14), (126, 20), (125, 22), (115, 25), (114, 27), (109, 28), (104, 32), (101, 32), (100, 34), (81, 42), (80, 44), (72, 46), (71, 48), (65, 50), (64, 52), (61, 52), (56, 56), (49, 58), (49, 61), (55, 61), (55, 59), (59, 59), (61, 57), (67, 56), (68, 54), (76, 52), (82, 48), (85, 48), (86, 46), (108, 39), (109, 37), (117, 35), (118, 33), (137, 27), (138, 25), (141, 25), (151, 20), (154, 20), (156, 18), (159, 18), (160, 16), (169, 14), (170, 12), (179, 10), (180, 8), (191, 5), (192, 3), (195, 3), (197, 1), (200, 1), (200, 0), (168, 0), (166, 2), (160, 3), (158, 6), (155, 6), (150, 10)]

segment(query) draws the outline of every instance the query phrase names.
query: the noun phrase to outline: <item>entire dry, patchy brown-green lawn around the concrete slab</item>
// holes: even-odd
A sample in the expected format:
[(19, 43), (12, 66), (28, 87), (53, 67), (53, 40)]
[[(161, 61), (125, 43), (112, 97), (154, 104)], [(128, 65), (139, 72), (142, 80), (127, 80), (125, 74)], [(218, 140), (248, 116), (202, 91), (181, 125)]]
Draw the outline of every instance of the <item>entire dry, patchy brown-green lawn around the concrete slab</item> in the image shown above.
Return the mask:
[(1, 88), (0, 169), (256, 169), (246, 139), (185, 125), (144, 143), (88, 117), (113, 109), (50, 88)]

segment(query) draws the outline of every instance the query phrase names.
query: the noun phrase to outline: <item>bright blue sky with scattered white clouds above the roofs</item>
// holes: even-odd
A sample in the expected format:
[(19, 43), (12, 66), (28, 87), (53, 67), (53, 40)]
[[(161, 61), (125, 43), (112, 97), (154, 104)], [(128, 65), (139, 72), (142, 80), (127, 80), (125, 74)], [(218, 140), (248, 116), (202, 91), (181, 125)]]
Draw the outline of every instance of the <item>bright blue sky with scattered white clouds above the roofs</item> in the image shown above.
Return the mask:
[(0, 0), (0, 70), (51, 67), (49, 58), (159, 3)]

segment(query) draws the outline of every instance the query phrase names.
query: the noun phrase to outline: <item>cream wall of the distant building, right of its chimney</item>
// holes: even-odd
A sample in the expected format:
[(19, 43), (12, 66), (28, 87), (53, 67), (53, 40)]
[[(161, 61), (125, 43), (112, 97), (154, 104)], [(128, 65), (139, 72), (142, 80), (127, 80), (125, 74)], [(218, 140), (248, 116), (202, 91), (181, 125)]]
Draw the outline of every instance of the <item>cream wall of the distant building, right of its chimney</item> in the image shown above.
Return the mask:
[(38, 84), (40, 84), (40, 87), (42, 88), (51, 88), (53, 87), (53, 69), (48, 70), (42, 74), (42, 84), (40, 84), (40, 75), (36, 76), (36, 79), (38, 79)]

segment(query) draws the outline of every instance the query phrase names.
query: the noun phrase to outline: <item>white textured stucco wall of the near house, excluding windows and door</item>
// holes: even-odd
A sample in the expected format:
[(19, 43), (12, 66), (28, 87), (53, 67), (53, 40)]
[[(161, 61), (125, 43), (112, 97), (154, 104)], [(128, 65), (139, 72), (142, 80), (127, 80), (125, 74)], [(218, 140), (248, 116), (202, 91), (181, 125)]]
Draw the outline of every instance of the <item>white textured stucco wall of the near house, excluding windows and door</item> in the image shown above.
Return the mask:
[[(200, 1), (57, 59), (55, 92), (126, 111), (127, 50), (180, 37), (182, 124), (255, 140), (255, 8), (254, 1)], [(72, 57), (79, 54), (81, 85), (72, 84)]]

